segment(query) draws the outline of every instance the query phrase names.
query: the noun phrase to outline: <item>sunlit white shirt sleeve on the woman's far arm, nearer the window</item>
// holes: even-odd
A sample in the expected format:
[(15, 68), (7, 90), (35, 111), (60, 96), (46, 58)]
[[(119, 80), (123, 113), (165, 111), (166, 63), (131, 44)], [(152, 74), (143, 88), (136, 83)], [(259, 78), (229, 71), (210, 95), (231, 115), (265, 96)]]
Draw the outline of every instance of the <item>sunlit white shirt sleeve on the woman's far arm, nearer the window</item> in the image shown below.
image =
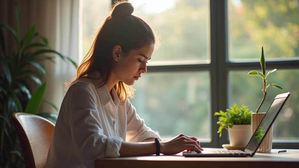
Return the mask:
[(147, 127), (144, 120), (136, 113), (135, 107), (129, 100), (126, 101), (127, 107), (127, 132), (126, 141), (142, 142), (148, 138), (160, 137), (159, 132)]

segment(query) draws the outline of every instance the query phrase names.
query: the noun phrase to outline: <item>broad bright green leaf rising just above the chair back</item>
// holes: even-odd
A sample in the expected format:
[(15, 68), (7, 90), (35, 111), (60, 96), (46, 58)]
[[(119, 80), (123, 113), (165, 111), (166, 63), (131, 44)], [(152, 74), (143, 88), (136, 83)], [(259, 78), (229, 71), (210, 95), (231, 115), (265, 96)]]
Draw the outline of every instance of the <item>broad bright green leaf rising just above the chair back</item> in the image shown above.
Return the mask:
[(44, 95), (47, 83), (42, 84), (41, 87), (37, 87), (33, 92), (31, 99), (29, 100), (25, 113), (37, 114), (37, 110), (39, 109), (39, 105), (42, 101), (42, 97)]

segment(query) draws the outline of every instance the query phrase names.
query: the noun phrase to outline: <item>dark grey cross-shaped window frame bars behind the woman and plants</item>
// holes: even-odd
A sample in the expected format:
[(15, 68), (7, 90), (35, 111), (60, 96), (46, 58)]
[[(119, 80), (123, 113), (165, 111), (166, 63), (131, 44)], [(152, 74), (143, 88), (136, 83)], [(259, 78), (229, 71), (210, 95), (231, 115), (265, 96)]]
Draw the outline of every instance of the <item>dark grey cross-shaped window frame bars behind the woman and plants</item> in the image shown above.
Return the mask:
[[(114, 4), (114, 0), (111, 1)], [(211, 83), (211, 128), (212, 137), (210, 143), (202, 142), (204, 147), (220, 148), (222, 144), (229, 143), (227, 131), (222, 132), (219, 138), (217, 133), (218, 117), (213, 112), (228, 107), (228, 73), (233, 70), (248, 70), (260, 68), (260, 62), (230, 62), (228, 60), (228, 18), (227, 0), (210, 0), (210, 64), (196, 65), (159, 65), (147, 66), (151, 72), (175, 72), (175, 71), (209, 71)], [(266, 61), (267, 68), (299, 69), (298, 60)], [(298, 149), (299, 140), (273, 140), (272, 148)]]

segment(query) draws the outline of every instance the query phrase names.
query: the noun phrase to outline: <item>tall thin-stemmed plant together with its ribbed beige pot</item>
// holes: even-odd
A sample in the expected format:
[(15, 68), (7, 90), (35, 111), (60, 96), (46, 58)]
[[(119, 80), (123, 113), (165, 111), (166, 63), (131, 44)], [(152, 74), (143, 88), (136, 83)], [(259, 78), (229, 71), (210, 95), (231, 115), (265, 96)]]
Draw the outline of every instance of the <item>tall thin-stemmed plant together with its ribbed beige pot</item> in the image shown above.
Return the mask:
[[(266, 113), (259, 113), (259, 110), (261, 108), (261, 106), (263, 105), (266, 95), (267, 95), (267, 89), (272, 86), (274, 88), (277, 89), (282, 89), (282, 87), (280, 85), (277, 84), (268, 84), (267, 85), (267, 77), (269, 74), (272, 74), (273, 72), (275, 72), (277, 69), (273, 69), (271, 71), (269, 71), (266, 75), (266, 62), (265, 62), (265, 57), (264, 57), (264, 49), (262, 47), (262, 54), (261, 54), (261, 59), (260, 59), (260, 64), (262, 67), (262, 72), (259, 71), (250, 71), (248, 72), (248, 75), (251, 76), (259, 76), (263, 79), (263, 99), (260, 102), (260, 105), (257, 107), (257, 110), (255, 111), (255, 113), (251, 114), (251, 131), (252, 134), (254, 134), (255, 130), (257, 129), (257, 127), (259, 126), (261, 120), (263, 119), (263, 117), (265, 116)], [(271, 152), (272, 149), (272, 137), (273, 137), (273, 125), (270, 127), (269, 132), (267, 133), (267, 135), (265, 135), (266, 137), (264, 138), (264, 140), (262, 141), (262, 143), (260, 144), (257, 152)]]

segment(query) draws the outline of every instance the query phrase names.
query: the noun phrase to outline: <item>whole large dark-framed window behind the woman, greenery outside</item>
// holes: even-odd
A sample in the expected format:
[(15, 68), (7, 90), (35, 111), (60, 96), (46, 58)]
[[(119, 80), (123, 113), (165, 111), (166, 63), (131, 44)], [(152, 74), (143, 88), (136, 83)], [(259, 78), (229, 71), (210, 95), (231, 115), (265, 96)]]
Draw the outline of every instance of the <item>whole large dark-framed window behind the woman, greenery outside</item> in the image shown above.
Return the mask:
[[(269, 88), (260, 112), (268, 109), (275, 95), (289, 91), (289, 100), (274, 122), (273, 147), (298, 147), (298, 0), (129, 2), (134, 14), (149, 23), (162, 41), (149, 61), (147, 74), (135, 82), (135, 98), (131, 100), (147, 126), (158, 130), (162, 138), (179, 133), (197, 136), (204, 147), (228, 143), (226, 132), (221, 138), (216, 133), (217, 117), (213, 114), (234, 103), (256, 110), (263, 86), (261, 78), (247, 73), (260, 71), (263, 46), (266, 71), (277, 68), (268, 83), (283, 90)], [(83, 9), (83, 25), (84, 15), (90, 23), (103, 21), (111, 0), (101, 5), (95, 3), (104, 1), (83, 1), (84, 6), (87, 3), (104, 9), (96, 9), (102, 14), (87, 14), (92, 7), (84, 7), (88, 10)], [(96, 24), (86, 27), (95, 28)]]

